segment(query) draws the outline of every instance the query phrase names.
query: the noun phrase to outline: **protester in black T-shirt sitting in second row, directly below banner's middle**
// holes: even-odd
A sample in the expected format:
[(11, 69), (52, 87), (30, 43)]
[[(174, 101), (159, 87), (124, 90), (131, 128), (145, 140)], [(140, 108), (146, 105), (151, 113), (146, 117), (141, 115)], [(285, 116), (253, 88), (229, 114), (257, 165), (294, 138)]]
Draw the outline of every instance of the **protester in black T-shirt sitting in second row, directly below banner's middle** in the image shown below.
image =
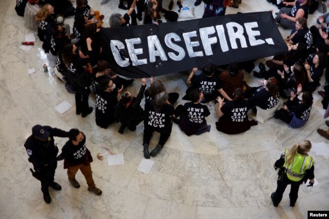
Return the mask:
[(210, 63), (206, 65), (203, 69), (203, 74), (194, 76), (196, 71), (197, 68), (193, 68), (187, 78), (187, 83), (191, 84), (192, 86), (186, 90), (186, 95), (183, 97), (183, 100), (189, 100), (189, 93), (192, 89), (195, 88), (202, 91), (204, 95), (201, 103), (207, 103), (211, 100), (215, 100), (219, 95), (224, 97), (226, 100), (232, 100), (223, 90), (218, 78), (214, 75), (214, 64)]

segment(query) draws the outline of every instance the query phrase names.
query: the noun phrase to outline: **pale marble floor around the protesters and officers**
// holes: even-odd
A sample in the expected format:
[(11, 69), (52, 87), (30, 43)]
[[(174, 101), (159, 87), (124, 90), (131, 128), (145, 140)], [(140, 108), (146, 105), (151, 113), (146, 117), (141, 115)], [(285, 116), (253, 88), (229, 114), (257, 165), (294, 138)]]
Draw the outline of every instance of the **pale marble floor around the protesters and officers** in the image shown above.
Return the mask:
[[(193, 5), (193, 1), (182, 2)], [(100, 10), (107, 21), (117, 9), (117, 1), (111, 0), (104, 6), (100, 6), (100, 2), (90, 0), (89, 4)], [(163, 6), (167, 8), (168, 4), (166, 0)], [(285, 148), (304, 139), (327, 143), (316, 133), (317, 128), (326, 128), (317, 92), (314, 92), (310, 120), (300, 129), (292, 129), (272, 118), (244, 134), (225, 135), (214, 128), (217, 118), (213, 104), (209, 104), (211, 115), (207, 120), (212, 130), (201, 136), (187, 137), (174, 124), (169, 141), (158, 156), (151, 158), (154, 165), (145, 174), (137, 170), (143, 158), (142, 124), (136, 132), (126, 130), (122, 136), (117, 133), (118, 124), (99, 128), (94, 113), (81, 118), (75, 115), (74, 107), (64, 114), (55, 110), (64, 100), (74, 105), (74, 95), (68, 94), (54, 75), (42, 71), (47, 59), (39, 40), (28, 52), (19, 49), (30, 30), (24, 26), (23, 18), (16, 15), (14, 6), (14, 0), (0, 1), (0, 218), (302, 219), (307, 218), (308, 210), (329, 210), (329, 159), (313, 152), (310, 154), (315, 160), (319, 185), (311, 189), (301, 186), (294, 208), (289, 206), (289, 191), (277, 208), (270, 199), (277, 177), (272, 165)], [(175, 3), (174, 10), (177, 9)], [(265, 0), (242, 0), (239, 9), (227, 8), (227, 14), (271, 9), (278, 11)], [(202, 13), (203, 3), (194, 11), (196, 18)], [(318, 12), (310, 15), (309, 24), (314, 24), (318, 16)], [(73, 18), (66, 22), (72, 25)], [(289, 34), (279, 29), (283, 37)], [(255, 63), (261, 61), (264, 62), (260, 59)], [(35, 68), (35, 73), (28, 74), (31, 68)], [(186, 77), (173, 73), (158, 79), (165, 83), (169, 92), (183, 95), (187, 88)], [(245, 73), (245, 80), (250, 85), (257, 84), (251, 74)], [(136, 94), (139, 86), (137, 80), (128, 89)], [(94, 96), (89, 102), (95, 108)], [(184, 102), (179, 99), (178, 104), (181, 103)], [(87, 147), (95, 158), (92, 169), (97, 186), (103, 190), (101, 196), (87, 191), (80, 172), (76, 179), (81, 188), (70, 186), (63, 162), (59, 162), (55, 179), (63, 189), (50, 189), (52, 202), (44, 202), (40, 184), (29, 171), (31, 164), (23, 147), (36, 123), (83, 130)], [(154, 147), (157, 139), (155, 134), (150, 145)], [(56, 141), (61, 147), (66, 140)], [(125, 164), (108, 166), (106, 160), (97, 160), (97, 153), (108, 154), (103, 146), (115, 154), (124, 154)]]

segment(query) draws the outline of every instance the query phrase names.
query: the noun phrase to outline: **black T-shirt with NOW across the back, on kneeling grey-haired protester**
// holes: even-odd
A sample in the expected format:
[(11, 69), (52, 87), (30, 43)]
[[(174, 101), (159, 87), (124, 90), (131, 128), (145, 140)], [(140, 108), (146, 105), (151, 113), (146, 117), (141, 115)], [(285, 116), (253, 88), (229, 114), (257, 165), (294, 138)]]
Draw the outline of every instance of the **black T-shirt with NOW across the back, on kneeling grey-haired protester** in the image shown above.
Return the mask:
[(174, 114), (174, 107), (165, 104), (158, 108), (153, 103), (153, 100), (145, 100), (144, 126), (161, 133), (171, 128), (170, 116)]

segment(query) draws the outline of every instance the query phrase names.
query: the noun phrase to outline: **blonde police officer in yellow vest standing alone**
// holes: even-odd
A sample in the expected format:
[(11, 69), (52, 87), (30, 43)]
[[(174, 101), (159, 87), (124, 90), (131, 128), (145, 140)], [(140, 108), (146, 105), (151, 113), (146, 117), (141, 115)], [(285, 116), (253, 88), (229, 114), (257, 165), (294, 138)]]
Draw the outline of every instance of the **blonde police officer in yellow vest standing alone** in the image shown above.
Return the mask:
[(313, 158), (307, 153), (312, 148), (311, 142), (304, 140), (295, 144), (292, 149), (285, 150), (274, 163), (274, 168), (280, 168), (278, 172), (277, 188), (271, 194), (271, 199), (275, 207), (280, 203), (284, 190), (288, 184), (291, 184), (289, 193), (290, 206), (294, 207), (298, 198), (299, 186), (307, 179), (310, 180), (308, 187), (314, 184), (314, 164)]

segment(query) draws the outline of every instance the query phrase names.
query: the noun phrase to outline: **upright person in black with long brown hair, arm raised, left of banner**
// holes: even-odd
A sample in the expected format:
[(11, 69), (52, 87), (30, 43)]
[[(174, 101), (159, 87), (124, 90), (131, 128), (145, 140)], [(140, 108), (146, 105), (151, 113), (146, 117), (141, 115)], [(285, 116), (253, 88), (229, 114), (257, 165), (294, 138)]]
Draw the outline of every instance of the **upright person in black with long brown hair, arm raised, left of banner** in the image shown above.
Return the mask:
[(86, 41), (89, 52), (86, 56), (72, 43), (66, 44), (62, 50), (62, 60), (68, 69), (66, 76), (75, 91), (75, 112), (76, 115), (81, 114), (82, 117), (86, 117), (93, 111), (88, 104), (91, 81), (89, 73), (85, 70), (85, 66), (90, 65), (93, 59), (92, 40), (87, 38)]

